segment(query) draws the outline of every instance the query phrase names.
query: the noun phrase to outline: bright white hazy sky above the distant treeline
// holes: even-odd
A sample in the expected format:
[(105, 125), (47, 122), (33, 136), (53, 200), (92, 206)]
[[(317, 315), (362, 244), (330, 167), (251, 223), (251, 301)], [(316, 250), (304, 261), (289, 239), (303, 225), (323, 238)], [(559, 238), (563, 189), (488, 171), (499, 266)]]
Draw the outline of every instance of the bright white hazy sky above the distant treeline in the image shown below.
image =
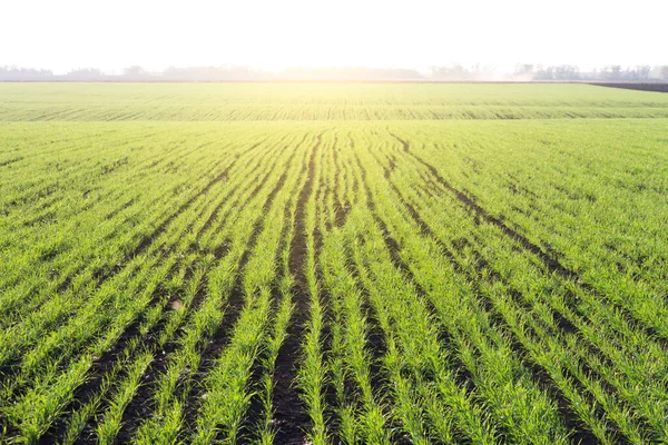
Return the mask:
[(668, 0), (3, 0), (0, 66), (668, 63)]

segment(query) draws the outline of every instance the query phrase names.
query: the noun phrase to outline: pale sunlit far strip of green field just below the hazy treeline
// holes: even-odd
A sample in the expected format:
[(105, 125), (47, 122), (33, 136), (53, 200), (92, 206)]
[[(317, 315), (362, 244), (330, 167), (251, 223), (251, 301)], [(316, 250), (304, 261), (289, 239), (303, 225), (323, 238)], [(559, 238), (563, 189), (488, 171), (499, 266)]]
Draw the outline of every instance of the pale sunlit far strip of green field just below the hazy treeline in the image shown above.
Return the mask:
[(0, 120), (668, 118), (668, 96), (589, 85), (0, 83)]

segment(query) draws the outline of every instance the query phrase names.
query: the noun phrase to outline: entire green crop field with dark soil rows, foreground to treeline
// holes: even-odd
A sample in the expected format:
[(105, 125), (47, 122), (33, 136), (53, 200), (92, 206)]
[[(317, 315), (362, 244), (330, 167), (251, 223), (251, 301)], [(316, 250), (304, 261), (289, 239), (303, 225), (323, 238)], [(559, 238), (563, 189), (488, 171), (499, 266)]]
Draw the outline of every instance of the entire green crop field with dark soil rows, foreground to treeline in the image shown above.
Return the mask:
[(0, 443), (668, 442), (668, 95), (0, 83)]

